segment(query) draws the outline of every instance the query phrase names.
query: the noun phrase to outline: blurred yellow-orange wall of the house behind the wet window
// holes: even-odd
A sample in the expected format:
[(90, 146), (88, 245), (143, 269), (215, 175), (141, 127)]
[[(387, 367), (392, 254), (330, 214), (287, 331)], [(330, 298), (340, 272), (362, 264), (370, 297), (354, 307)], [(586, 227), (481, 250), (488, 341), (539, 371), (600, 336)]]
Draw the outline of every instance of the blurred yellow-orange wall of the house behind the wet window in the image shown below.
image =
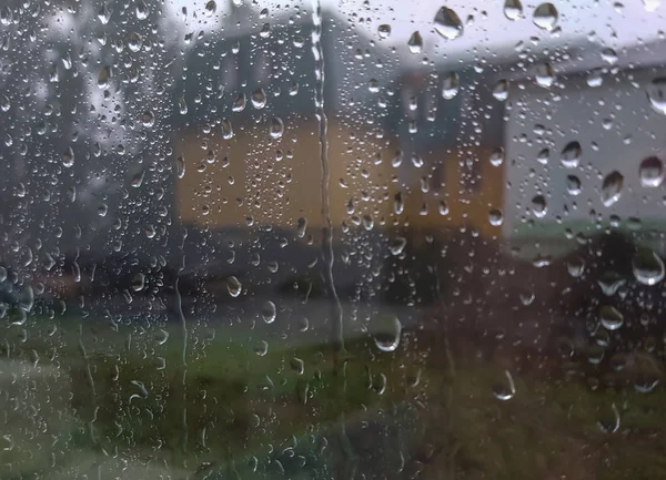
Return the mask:
[[(285, 118), (283, 122), (285, 130), (279, 140), (269, 135), (270, 116), (255, 124), (232, 125), (234, 136), (230, 140), (222, 137), (219, 125), (210, 133), (180, 132), (175, 154), (182, 155), (185, 163), (185, 175), (176, 178), (181, 221), (222, 227), (245, 226), (245, 218), (252, 217), (255, 225), (295, 228), (303, 217), (307, 221), (307, 233), (316, 236), (323, 225), (319, 124), (314, 118), (306, 121), (302, 116)], [(500, 234), (500, 228), (488, 223), (488, 211), (502, 207), (504, 171), (490, 164), (490, 147), (466, 152), (478, 159), (481, 174), (481, 186), (466, 192), (461, 182), (464, 170), (461, 153), (425, 155), (421, 168), (415, 168), (405, 154), (403, 166), (394, 168), (396, 137), (342, 124), (335, 118), (330, 119), (327, 133), (330, 212), (334, 228), (340, 228), (343, 222), (354, 228), (354, 217), (357, 223), (370, 215), (380, 228), (406, 223), (414, 231), (432, 231), (465, 224), (485, 236)], [(214, 154), (212, 163), (206, 160), (209, 151)], [(282, 152), (281, 160), (278, 151)], [(420, 177), (433, 174), (428, 165), (443, 165), (444, 186), (438, 192), (421, 191)], [(401, 215), (395, 215), (394, 196), (398, 191), (405, 207)], [(351, 198), (354, 211), (350, 215)], [(448, 206), (447, 215), (440, 214), (441, 201)], [(425, 216), (420, 215), (424, 202), (428, 210)]]

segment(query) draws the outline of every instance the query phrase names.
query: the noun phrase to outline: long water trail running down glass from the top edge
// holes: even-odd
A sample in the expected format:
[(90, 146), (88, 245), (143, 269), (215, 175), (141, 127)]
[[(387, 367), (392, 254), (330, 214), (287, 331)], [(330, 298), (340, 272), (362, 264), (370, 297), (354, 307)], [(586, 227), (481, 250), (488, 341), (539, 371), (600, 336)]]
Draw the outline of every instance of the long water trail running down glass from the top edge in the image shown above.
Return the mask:
[[(314, 29), (312, 31), (312, 53), (314, 55), (314, 106), (315, 114), (319, 121), (319, 141), (320, 141), (320, 163), (322, 167), (321, 191), (322, 191), (322, 254), (324, 257), (324, 268), (326, 283), (331, 292), (331, 324), (332, 324), (332, 343), (335, 349), (336, 364), (337, 356), (344, 353), (344, 331), (342, 319), (342, 305), (335, 289), (335, 280), (333, 278), (333, 222), (331, 221), (331, 206), (329, 195), (329, 184), (331, 173), (329, 170), (329, 119), (324, 110), (324, 49), (322, 47), (322, 6), (321, 0), (312, 0), (312, 22)], [(337, 366), (336, 366), (337, 368)]]

